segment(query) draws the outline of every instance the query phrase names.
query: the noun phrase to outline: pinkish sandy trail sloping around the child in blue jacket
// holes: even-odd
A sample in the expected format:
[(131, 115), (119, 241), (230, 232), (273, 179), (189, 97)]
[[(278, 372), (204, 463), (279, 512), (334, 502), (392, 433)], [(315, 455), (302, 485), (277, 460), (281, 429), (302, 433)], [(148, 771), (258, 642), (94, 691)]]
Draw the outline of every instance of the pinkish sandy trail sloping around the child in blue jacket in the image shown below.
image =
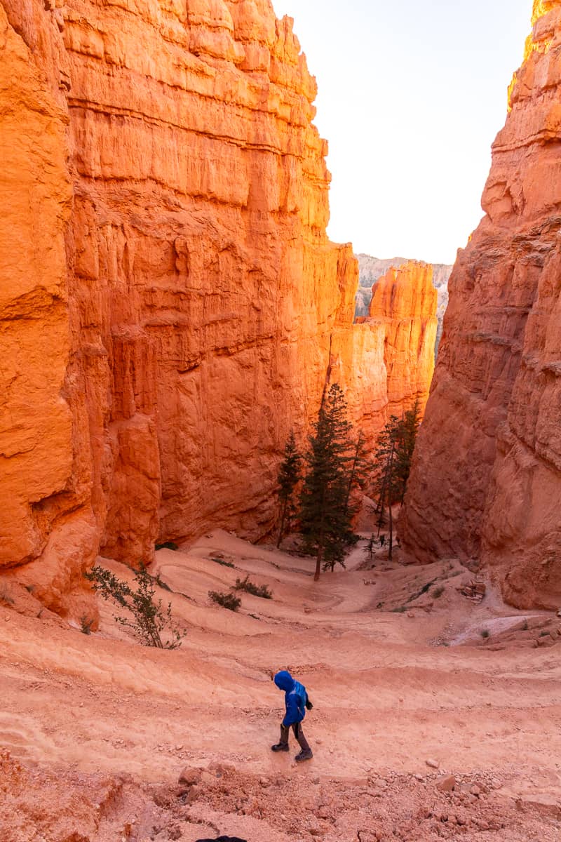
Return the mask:
[[(458, 780), (462, 775), (469, 780), (487, 775), (485, 780), (493, 777), (501, 785), (493, 796), (495, 813), (503, 808), (512, 811), (504, 828), (497, 828), (502, 833), (510, 827), (510, 835), (495, 839), (533, 838), (525, 833), (546, 840), (561, 838), (559, 646), (505, 645), (493, 651), (484, 645), (435, 645), (464, 639), (477, 642), (478, 636), (479, 644), (484, 644), (478, 630), (492, 629), (493, 624), (498, 629), (510, 627), (525, 615), (502, 606), (495, 594), (488, 605), (485, 601), (471, 605), (456, 591), (468, 574), (450, 565), (402, 568), (389, 565), (378, 551), (373, 569), (359, 569), (365, 560), (364, 546), (365, 542), (352, 552), (347, 571), (325, 573), (317, 584), (310, 559), (251, 546), (220, 531), (188, 552), (159, 551), (155, 573), (172, 589), (160, 595), (172, 601), (174, 616), (188, 630), (183, 647), (175, 652), (135, 644), (114, 622), (106, 604), (100, 606), (100, 631), (90, 636), (50, 618), (21, 616), (17, 601), (13, 606), (0, 605), (0, 746), (8, 749), (12, 760), (24, 764), (21, 774), (28, 769), (35, 775), (57, 770), (59, 780), (63, 773), (70, 775), (70, 787), (78, 786), (80, 775), (89, 775), (90, 790), (107, 776), (112, 780), (130, 776), (126, 777), (129, 794), (119, 795), (129, 806), (119, 808), (120, 813), (116, 810), (113, 823), (98, 822), (89, 835), (65, 838), (66, 826), (63, 832), (53, 829), (52, 823), (46, 827), (28, 821), (20, 829), (13, 825), (6, 842), (121, 838), (145, 842), (171, 839), (180, 832), (183, 835), (175, 838), (198, 839), (193, 835), (198, 833), (194, 822), (207, 820), (209, 827), (221, 824), (223, 832), (230, 828), (232, 833), (237, 823), (246, 834), (243, 838), (251, 842), (277, 838), (350, 842), (359, 838), (355, 824), (368, 816), (372, 823), (371, 807), (363, 805), (363, 795), (355, 790), (350, 800), (340, 792), (346, 803), (343, 818), (335, 807), (336, 818), (318, 818), (321, 805), (316, 798), (315, 813), (310, 807), (304, 811), (308, 816), (312, 809), (319, 823), (318, 832), (312, 833), (296, 819), (296, 829), (290, 830), (292, 819), (287, 818), (284, 827), (280, 820), (279, 828), (274, 817), (265, 816), (272, 798), (282, 801), (279, 792), (270, 795), (268, 783), (253, 797), (252, 812), (240, 807), (239, 800), (230, 803), (222, 791), (219, 797), (209, 784), (208, 797), (199, 795), (188, 818), (177, 819), (175, 830), (169, 830), (169, 822), (163, 829), (156, 827), (157, 832), (154, 827), (144, 829), (139, 815), (146, 807), (139, 805), (146, 799), (139, 797), (139, 787), (151, 792), (155, 787), (173, 787), (184, 766), (216, 763), (235, 767), (235, 773), (228, 772), (236, 775), (236, 786), (230, 788), (249, 787), (263, 776), (289, 787), (295, 778), (299, 797), (304, 793), (311, 798), (318, 786), (348, 790), (356, 789), (357, 781), (373, 786), (373, 781), (384, 780), (390, 795), (376, 803), (379, 807), (394, 798), (392, 810), (386, 810), (394, 816), (405, 810), (403, 805), (415, 805), (424, 787), (432, 787), (433, 793), (431, 775), (434, 778), (443, 770), (458, 775)], [(114, 562), (107, 564), (127, 575)], [(273, 600), (243, 594), (237, 614), (210, 604), (209, 589), (226, 590), (246, 573), (257, 584), (268, 584)], [(429, 589), (410, 599), (432, 580), (442, 583), (442, 594), (431, 597)], [(539, 620), (551, 620), (551, 615), (533, 613)], [(489, 643), (493, 642), (494, 632)], [(315, 704), (304, 723), (315, 757), (304, 767), (294, 765), (293, 752), (279, 757), (269, 748), (278, 738), (283, 697), (268, 673), (283, 668), (304, 682)], [(427, 759), (439, 769), (428, 767)], [(396, 775), (404, 777), (396, 782)], [(37, 786), (45, 795), (55, 785), (45, 778)], [(479, 796), (466, 797), (478, 802), (470, 809), (483, 809)], [(355, 801), (358, 812), (352, 819)], [(458, 809), (463, 806), (462, 802)], [(175, 816), (176, 807), (166, 809)], [(294, 804), (285, 809), (294, 812)], [(21, 804), (19, 810), (25, 813)], [(126, 831), (129, 835), (124, 832), (127, 810), (135, 817), (132, 829)], [(329, 813), (327, 807), (324, 812)], [(211, 821), (214, 813), (221, 817), (218, 824)], [(385, 834), (384, 815), (378, 819)], [(251, 823), (259, 822), (262, 829), (256, 830)], [(420, 825), (413, 823), (409, 835), (400, 830), (397, 838), (437, 839), (444, 824), (440, 822), (434, 835), (427, 825), (425, 835), (415, 836)], [(4, 842), (2, 828), (0, 823)], [(30, 828), (36, 835), (29, 835)], [(456, 829), (458, 839), (479, 839), (478, 834), (489, 839), (493, 833), (492, 825), (481, 829), (469, 822)], [(448, 833), (450, 826), (445, 830)], [(368, 839), (371, 832), (377, 831), (363, 828), (360, 838)], [(396, 837), (390, 834), (390, 838)], [(448, 833), (447, 838), (456, 837)]]

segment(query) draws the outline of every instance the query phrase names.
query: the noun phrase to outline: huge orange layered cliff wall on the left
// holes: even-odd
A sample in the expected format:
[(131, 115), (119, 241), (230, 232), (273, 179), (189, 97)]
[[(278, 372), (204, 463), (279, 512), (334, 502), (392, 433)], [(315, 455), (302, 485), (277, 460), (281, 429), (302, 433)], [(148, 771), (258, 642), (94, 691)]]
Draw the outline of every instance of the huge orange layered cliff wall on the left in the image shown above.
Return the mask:
[(64, 611), (98, 551), (266, 534), (326, 379), (384, 423), (385, 331), (353, 326), (315, 80), (269, 0), (0, 12), (0, 567)]

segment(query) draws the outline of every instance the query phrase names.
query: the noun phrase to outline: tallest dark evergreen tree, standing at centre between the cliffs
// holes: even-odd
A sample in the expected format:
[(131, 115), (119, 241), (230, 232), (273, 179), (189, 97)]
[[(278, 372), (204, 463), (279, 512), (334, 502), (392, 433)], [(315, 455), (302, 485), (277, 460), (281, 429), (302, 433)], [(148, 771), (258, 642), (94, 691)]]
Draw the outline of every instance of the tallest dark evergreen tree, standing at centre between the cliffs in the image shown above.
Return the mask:
[(315, 581), (322, 568), (345, 566), (352, 541), (349, 498), (354, 454), (352, 424), (341, 386), (333, 383), (322, 402), (310, 447), (304, 456), (308, 471), (300, 496), (300, 525), (304, 546), (315, 552)]

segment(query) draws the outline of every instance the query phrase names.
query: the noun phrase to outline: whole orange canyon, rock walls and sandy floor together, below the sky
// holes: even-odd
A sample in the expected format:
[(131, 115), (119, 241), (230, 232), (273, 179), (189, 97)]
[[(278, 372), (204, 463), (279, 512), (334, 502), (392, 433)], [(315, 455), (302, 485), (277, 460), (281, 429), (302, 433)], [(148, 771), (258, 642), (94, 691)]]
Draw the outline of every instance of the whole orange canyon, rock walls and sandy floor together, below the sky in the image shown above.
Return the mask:
[[(0, 0), (0, 842), (558, 842), (561, 2), (531, 5), (448, 266), (331, 242), (321, 78), (270, 0)], [(334, 385), (352, 536), (315, 582)], [(271, 752), (280, 670), (306, 763)]]

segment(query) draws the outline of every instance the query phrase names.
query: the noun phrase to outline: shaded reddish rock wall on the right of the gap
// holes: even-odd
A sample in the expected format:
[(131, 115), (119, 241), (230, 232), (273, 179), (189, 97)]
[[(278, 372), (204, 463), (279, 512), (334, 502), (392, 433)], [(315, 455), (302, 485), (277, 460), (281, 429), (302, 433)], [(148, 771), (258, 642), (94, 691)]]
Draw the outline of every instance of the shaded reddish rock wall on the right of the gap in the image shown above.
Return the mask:
[(558, 607), (561, 3), (533, 24), (450, 279), (401, 534), (410, 557), (481, 559), (512, 604)]

